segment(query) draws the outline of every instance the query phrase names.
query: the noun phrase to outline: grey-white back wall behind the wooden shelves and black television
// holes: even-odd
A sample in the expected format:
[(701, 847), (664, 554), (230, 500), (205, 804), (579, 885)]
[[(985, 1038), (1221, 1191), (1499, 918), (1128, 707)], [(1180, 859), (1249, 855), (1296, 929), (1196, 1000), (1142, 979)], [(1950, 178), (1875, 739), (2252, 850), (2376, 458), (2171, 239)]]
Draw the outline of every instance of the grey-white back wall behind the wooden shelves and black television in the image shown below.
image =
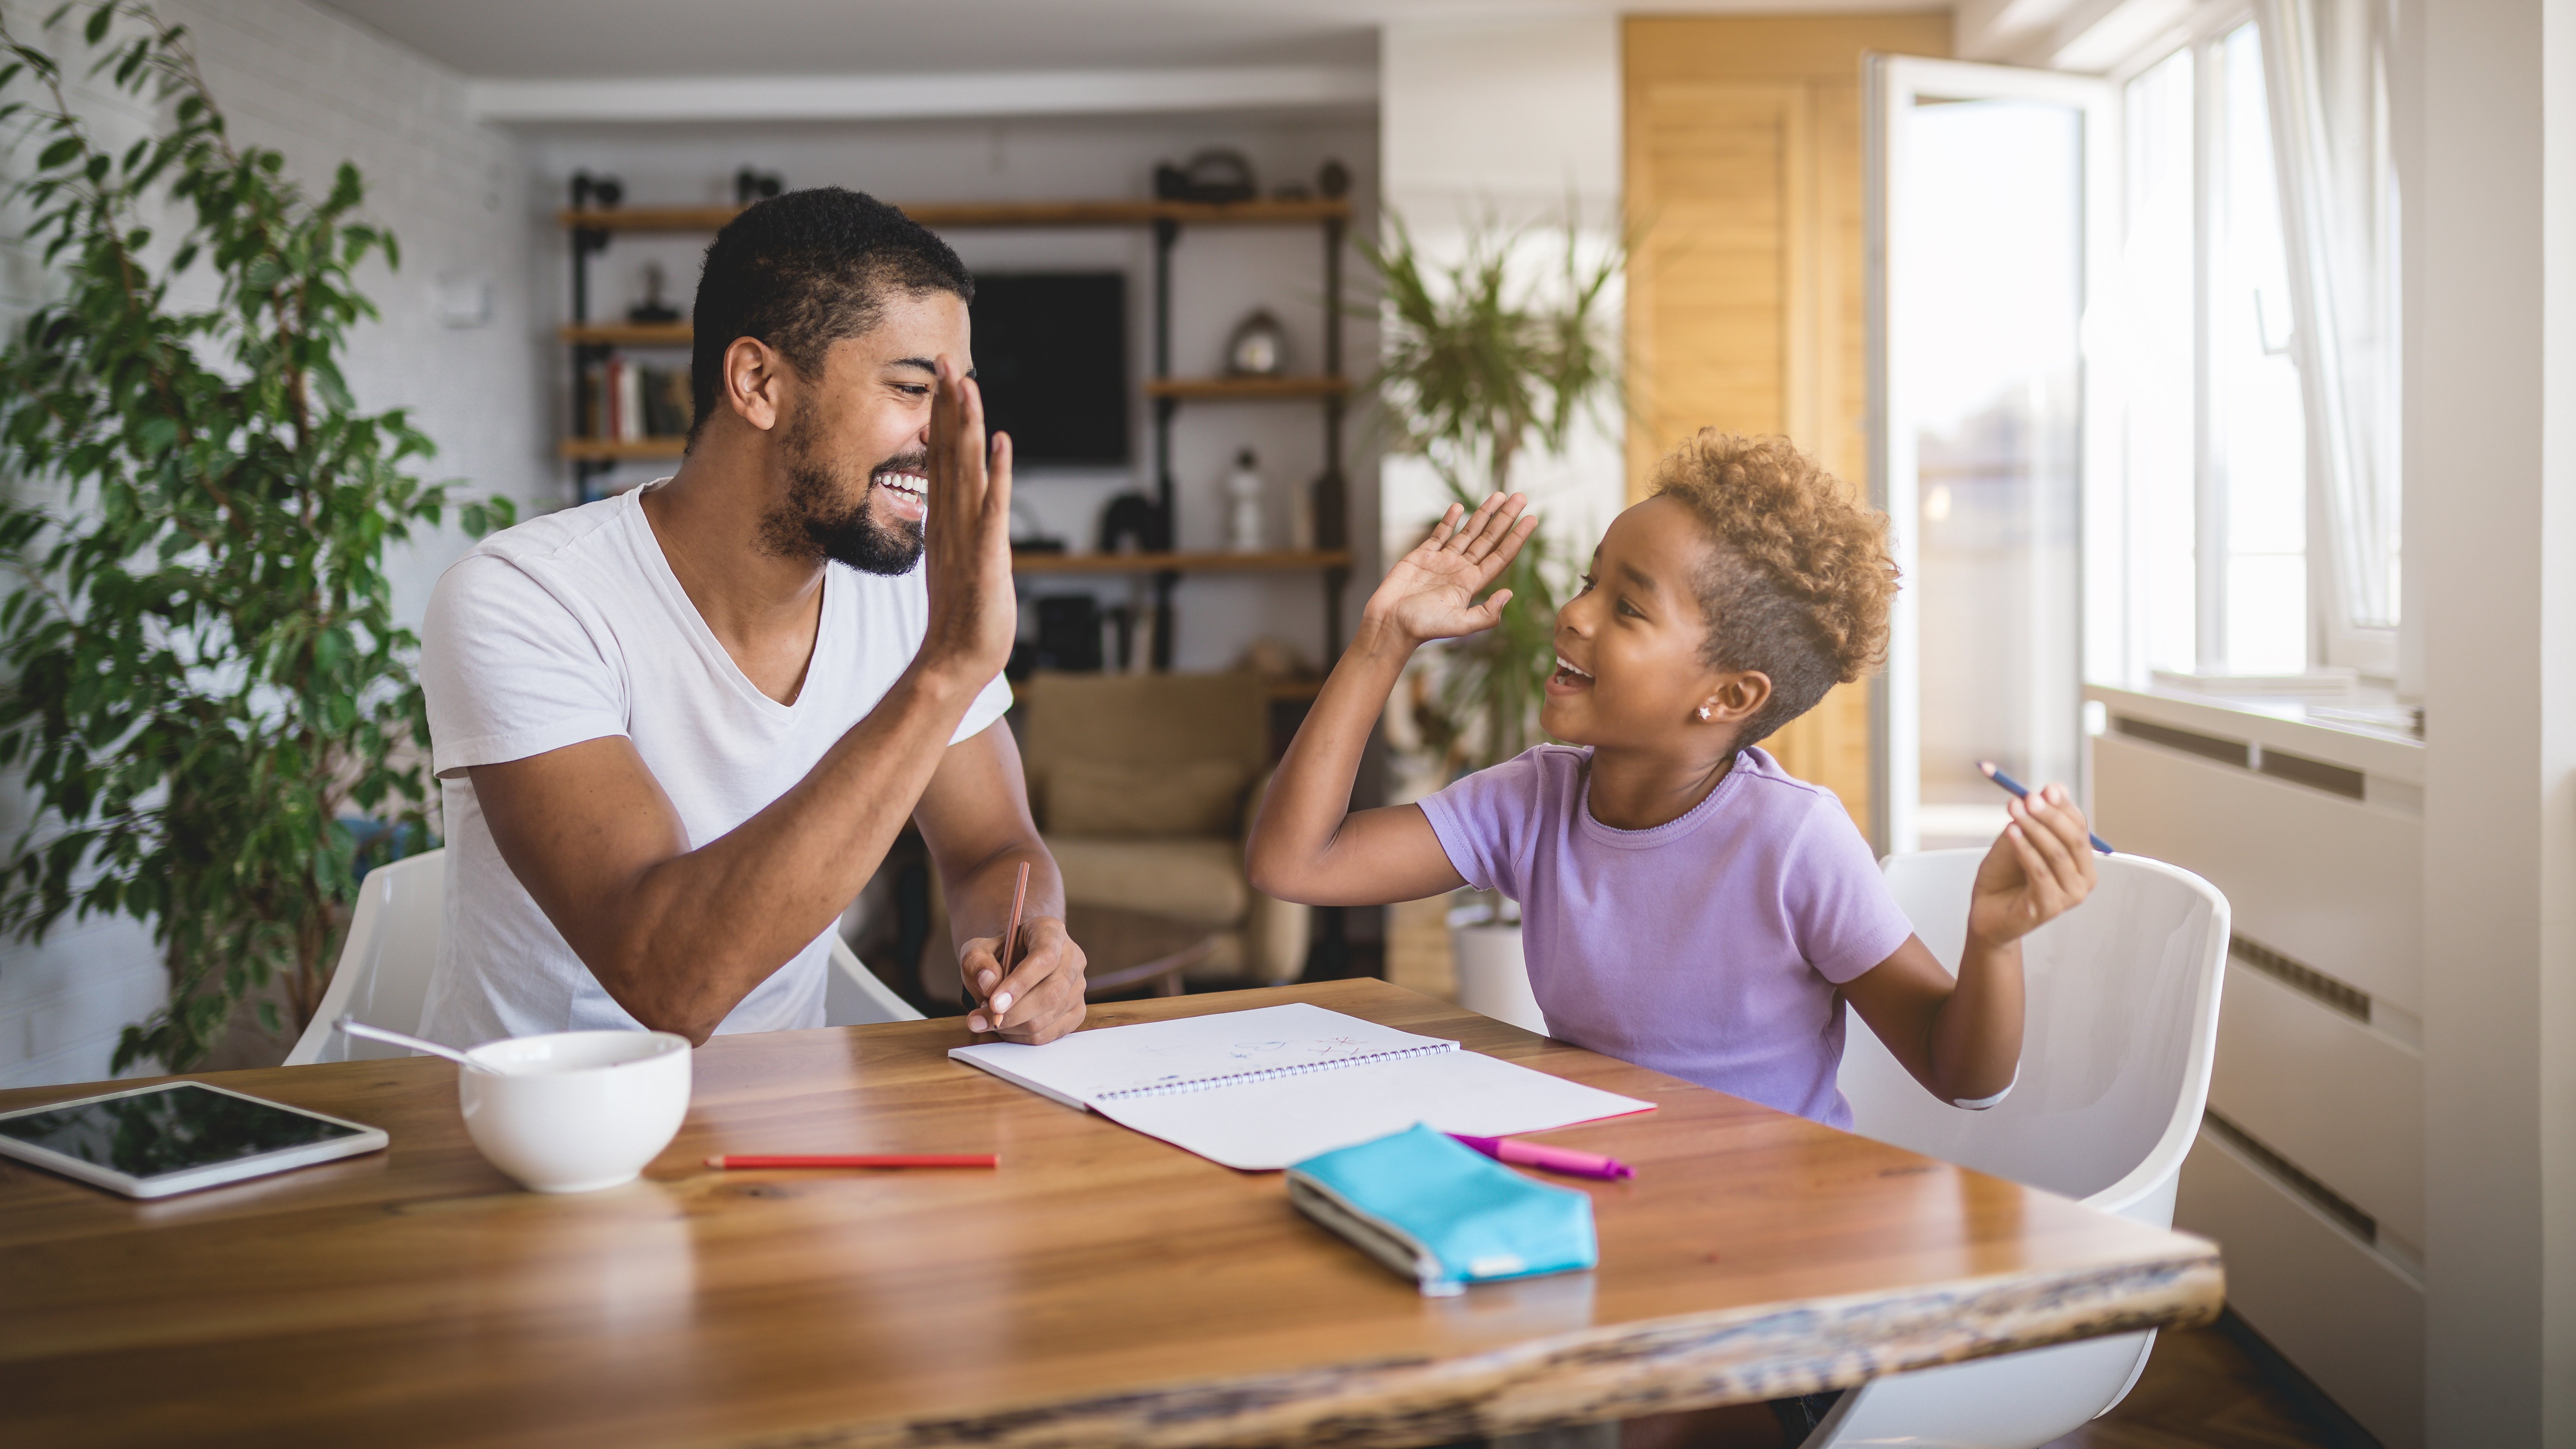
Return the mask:
[[(569, 317), (569, 250), (554, 227), (554, 206), (574, 170), (616, 175), (626, 204), (732, 204), (732, 178), (742, 165), (775, 170), (788, 186), (850, 186), (886, 201), (1066, 201), (1095, 196), (1151, 196), (1154, 162), (1185, 160), (1200, 147), (1242, 150), (1262, 183), (1314, 183), (1327, 157), (1342, 160), (1360, 204), (1355, 232), (1376, 224), (1378, 137), (1363, 113), (1316, 116), (1092, 116), (1051, 121), (871, 121), (809, 126), (592, 126), (531, 129), (528, 155), (544, 217), (533, 219), (541, 297), (549, 317)], [(536, 214), (531, 214), (536, 217)], [(688, 309), (698, 284), (703, 235), (618, 237), (592, 260), (592, 317), (613, 320), (641, 297), (639, 273), (659, 260), (672, 307)], [(958, 229), (948, 235), (976, 271), (1123, 268), (1128, 273), (1128, 371), (1151, 374), (1151, 235), (1118, 229)], [(1345, 297), (1368, 297), (1368, 268), (1345, 253)], [(1172, 371), (1221, 371), (1226, 335), (1255, 307), (1267, 307), (1288, 330), (1291, 371), (1321, 369), (1324, 242), (1319, 227), (1200, 227), (1185, 229), (1172, 253)], [(1376, 356), (1376, 325), (1347, 317), (1342, 366), (1365, 376)], [(569, 410), (569, 361), (554, 361), (549, 425)], [(1023, 469), (1018, 500), (1048, 534), (1092, 547), (1100, 505), (1123, 490), (1154, 485), (1151, 415), (1133, 392), (1133, 462), (1126, 469)], [(1172, 474), (1182, 549), (1213, 549), (1224, 539), (1224, 474), (1234, 451), (1249, 446), (1270, 482), (1270, 536), (1285, 547), (1291, 490), (1303, 490), (1324, 469), (1324, 423), (1316, 402), (1182, 405), (1172, 428)], [(1376, 446), (1358, 420), (1345, 433), (1342, 464), (1350, 474), (1350, 516), (1376, 518)], [(626, 467), (618, 482), (670, 472), (672, 464)], [(569, 480), (556, 485), (569, 490)], [(1355, 523), (1363, 552), (1355, 578), (1376, 578), (1373, 536)], [(1309, 660), (1321, 655), (1321, 583), (1314, 575), (1193, 575), (1175, 596), (1175, 668), (1231, 668), (1244, 645), (1278, 637)], [(1030, 588), (1025, 585), (1023, 593)], [(1033, 580), (1036, 593), (1092, 590), (1123, 601), (1128, 585)], [(1352, 588), (1365, 598), (1365, 583)], [(1345, 629), (1350, 624), (1345, 621)], [(1023, 632), (1036, 614), (1023, 611)]]

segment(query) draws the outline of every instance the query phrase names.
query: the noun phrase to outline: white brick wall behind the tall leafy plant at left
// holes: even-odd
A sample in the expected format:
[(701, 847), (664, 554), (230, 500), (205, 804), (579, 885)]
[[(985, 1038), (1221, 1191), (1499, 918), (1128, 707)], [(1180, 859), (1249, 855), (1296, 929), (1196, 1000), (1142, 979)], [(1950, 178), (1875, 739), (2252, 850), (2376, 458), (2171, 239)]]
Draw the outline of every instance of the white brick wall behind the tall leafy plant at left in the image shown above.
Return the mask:
[[(52, 0), (8, 3), (26, 36)], [(402, 271), (371, 263), (361, 286), (384, 312), (350, 340), (348, 379), (366, 407), (410, 407), (438, 441), (428, 477), (464, 480), (520, 500), (562, 492), (546, 459), (538, 379), (544, 320), (531, 312), (531, 237), (549, 196), (528, 186), (518, 144), (464, 113), (464, 83), (304, 0), (162, 0), (162, 13), (196, 36), (198, 62), (234, 134), (286, 152), (289, 173), (330, 186), (340, 160), (368, 180), (366, 211), (402, 240)], [(77, 15), (54, 36), (72, 75), (85, 70)], [(108, 116), (103, 131), (131, 134), (139, 116), (85, 90), (82, 111)], [(23, 175), (23, 157), (0, 160), (0, 180)], [(0, 219), (0, 325), (15, 322), (46, 286), (36, 255), (13, 237), (23, 217)], [(435, 315), (440, 278), (482, 281), (492, 317), (448, 327)], [(461, 552), (453, 529), (394, 559), (397, 614), (417, 621), (438, 570)], [(0, 786), (0, 828), (15, 838), (23, 797)], [(0, 946), (0, 1085), (103, 1078), (116, 1031), (157, 1006), (162, 993), (152, 941), (131, 920), (70, 923), (41, 946)]]

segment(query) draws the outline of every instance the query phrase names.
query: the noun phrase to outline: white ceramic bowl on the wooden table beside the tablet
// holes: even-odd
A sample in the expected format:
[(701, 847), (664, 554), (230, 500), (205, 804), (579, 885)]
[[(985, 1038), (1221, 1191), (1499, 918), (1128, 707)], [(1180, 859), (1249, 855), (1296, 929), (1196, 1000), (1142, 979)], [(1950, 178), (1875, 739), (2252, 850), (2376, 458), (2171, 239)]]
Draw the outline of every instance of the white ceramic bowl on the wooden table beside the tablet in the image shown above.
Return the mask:
[(466, 1134), (533, 1191), (631, 1183), (688, 1116), (688, 1036), (556, 1031), (474, 1047), (456, 1067)]

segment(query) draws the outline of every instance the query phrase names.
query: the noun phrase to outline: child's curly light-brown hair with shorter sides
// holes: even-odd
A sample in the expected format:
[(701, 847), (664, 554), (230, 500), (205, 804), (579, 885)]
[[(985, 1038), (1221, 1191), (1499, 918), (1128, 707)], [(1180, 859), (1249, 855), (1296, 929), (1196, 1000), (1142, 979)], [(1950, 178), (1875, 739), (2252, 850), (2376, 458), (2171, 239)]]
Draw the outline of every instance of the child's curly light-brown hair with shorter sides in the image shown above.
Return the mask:
[(1654, 498), (1680, 503), (1708, 531), (1700, 611), (1710, 668), (1772, 681), (1770, 704), (1736, 735), (1741, 745), (1886, 660), (1896, 603), (1888, 516), (1788, 438), (1700, 428), (1654, 467)]

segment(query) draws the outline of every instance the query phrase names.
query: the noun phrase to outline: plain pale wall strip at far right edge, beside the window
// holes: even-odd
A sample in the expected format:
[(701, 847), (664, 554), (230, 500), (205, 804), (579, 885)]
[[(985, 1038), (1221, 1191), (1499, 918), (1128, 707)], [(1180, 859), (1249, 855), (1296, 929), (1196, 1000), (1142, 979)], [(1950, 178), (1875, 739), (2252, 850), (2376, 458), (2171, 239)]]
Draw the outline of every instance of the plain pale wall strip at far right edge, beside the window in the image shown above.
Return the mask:
[(2427, 1426), (2432, 1444), (2571, 1444), (2576, 173), (2563, 142), (2576, 139), (2576, 72), (2563, 62), (2576, 15), (2566, 0), (2403, 10), (2406, 552), (2421, 559), (2427, 691)]

